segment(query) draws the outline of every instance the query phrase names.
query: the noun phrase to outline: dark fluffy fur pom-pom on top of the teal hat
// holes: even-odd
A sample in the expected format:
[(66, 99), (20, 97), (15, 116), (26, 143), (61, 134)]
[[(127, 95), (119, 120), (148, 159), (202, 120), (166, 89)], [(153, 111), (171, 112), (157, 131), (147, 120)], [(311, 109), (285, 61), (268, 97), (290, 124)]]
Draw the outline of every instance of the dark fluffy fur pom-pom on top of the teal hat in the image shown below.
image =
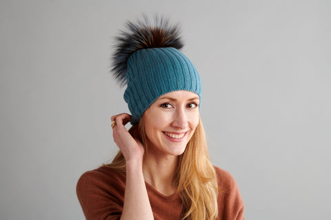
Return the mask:
[(148, 17), (137, 23), (126, 23), (127, 31), (117, 36), (117, 45), (112, 56), (112, 72), (121, 86), (126, 85), (127, 63), (137, 50), (155, 47), (174, 47), (180, 50), (183, 42), (179, 37), (179, 26), (170, 25), (168, 19), (156, 17), (154, 23)]

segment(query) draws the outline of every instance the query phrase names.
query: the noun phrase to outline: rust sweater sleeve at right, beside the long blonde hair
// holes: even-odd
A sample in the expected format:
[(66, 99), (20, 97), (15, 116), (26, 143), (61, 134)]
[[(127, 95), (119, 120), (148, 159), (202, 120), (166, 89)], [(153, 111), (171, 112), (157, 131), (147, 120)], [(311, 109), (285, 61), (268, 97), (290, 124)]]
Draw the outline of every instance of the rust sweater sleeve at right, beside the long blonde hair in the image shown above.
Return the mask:
[(244, 203), (237, 182), (228, 171), (215, 167), (219, 182), (219, 219), (244, 220)]

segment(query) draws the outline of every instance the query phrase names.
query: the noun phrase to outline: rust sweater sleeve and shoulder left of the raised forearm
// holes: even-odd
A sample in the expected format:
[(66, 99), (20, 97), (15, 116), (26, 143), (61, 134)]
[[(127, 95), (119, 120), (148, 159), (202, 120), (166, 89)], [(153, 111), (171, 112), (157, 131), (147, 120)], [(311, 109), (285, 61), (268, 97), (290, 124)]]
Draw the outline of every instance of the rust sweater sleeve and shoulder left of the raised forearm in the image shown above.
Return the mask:
[(77, 197), (87, 220), (121, 218), (125, 177), (116, 170), (107, 172), (101, 167), (79, 178)]

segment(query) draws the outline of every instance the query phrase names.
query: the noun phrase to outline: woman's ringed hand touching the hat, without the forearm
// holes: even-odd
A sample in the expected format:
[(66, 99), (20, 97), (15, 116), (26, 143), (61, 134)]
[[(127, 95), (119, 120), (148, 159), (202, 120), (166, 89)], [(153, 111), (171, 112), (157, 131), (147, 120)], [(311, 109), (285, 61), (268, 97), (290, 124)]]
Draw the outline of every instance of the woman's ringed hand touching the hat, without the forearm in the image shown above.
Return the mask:
[[(132, 137), (125, 127), (130, 122), (131, 115), (121, 113), (112, 116), (111, 120), (116, 121), (112, 128), (112, 137), (114, 137), (114, 142), (119, 146), (124, 158), (126, 158), (126, 162), (132, 159), (139, 159), (142, 162), (143, 144), (138, 140), (137, 135)], [(138, 134), (138, 131), (134, 132), (134, 134)]]

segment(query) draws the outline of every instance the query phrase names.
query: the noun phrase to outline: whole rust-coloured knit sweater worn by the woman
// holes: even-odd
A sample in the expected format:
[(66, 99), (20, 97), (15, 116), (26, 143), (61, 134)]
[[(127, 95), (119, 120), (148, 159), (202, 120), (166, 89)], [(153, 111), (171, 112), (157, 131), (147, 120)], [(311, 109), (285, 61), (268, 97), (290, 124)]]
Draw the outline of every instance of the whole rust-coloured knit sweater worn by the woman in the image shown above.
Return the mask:
[[(219, 220), (244, 219), (243, 200), (239, 188), (230, 173), (215, 167), (219, 188), (217, 202)], [(126, 175), (117, 170), (102, 166), (90, 170), (77, 183), (77, 197), (88, 220), (120, 219), (123, 209)], [(155, 220), (181, 219), (183, 206), (178, 194), (164, 196), (146, 183), (148, 197)]]

